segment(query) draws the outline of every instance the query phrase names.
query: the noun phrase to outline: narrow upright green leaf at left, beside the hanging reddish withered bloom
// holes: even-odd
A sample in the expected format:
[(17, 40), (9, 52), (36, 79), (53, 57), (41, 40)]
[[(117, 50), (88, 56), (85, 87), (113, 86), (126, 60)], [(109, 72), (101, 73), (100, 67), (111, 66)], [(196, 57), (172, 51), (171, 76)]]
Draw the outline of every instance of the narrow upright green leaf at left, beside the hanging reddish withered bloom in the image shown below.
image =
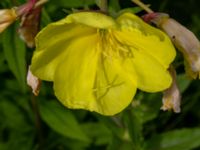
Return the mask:
[(26, 48), (22, 40), (19, 39), (14, 26), (3, 33), (3, 50), (10, 70), (24, 91), (26, 87)]

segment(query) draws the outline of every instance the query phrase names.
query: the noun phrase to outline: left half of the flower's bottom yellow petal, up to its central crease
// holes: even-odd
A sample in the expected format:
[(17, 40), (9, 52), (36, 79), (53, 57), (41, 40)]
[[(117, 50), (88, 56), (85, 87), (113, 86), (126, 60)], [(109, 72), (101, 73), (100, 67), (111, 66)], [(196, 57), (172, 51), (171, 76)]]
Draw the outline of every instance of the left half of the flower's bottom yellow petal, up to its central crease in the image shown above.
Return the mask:
[(67, 107), (89, 110), (95, 107), (92, 89), (99, 56), (96, 43), (97, 35), (84, 36), (71, 43), (55, 71), (55, 94)]

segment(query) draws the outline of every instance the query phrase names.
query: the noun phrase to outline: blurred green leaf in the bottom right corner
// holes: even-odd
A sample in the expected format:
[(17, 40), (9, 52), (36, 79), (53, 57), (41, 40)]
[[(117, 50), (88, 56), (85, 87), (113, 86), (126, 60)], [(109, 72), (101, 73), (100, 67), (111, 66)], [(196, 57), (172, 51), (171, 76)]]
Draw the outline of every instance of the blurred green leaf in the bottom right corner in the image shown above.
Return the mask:
[(147, 150), (192, 150), (198, 146), (200, 146), (200, 128), (158, 134), (145, 144)]

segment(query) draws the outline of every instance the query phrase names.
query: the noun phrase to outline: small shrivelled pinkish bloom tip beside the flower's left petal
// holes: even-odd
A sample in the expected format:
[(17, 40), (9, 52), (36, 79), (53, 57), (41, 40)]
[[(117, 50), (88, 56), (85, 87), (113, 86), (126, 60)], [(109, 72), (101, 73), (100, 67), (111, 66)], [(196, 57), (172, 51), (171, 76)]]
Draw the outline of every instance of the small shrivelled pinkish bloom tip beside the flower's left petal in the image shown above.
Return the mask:
[(35, 96), (38, 96), (41, 87), (41, 80), (32, 74), (30, 67), (28, 69), (28, 74), (27, 74), (27, 84), (31, 87), (32, 93)]

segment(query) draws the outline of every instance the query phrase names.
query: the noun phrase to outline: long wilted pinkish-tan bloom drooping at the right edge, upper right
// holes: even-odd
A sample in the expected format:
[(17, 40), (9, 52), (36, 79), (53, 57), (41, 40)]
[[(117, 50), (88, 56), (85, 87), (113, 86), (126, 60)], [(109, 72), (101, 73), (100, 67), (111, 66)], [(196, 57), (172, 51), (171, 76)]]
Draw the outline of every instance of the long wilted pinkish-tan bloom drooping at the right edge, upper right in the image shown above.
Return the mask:
[(200, 78), (200, 42), (197, 37), (176, 20), (169, 18), (167, 14), (154, 13), (153, 16), (151, 22), (165, 31), (183, 54), (188, 75), (193, 79)]

